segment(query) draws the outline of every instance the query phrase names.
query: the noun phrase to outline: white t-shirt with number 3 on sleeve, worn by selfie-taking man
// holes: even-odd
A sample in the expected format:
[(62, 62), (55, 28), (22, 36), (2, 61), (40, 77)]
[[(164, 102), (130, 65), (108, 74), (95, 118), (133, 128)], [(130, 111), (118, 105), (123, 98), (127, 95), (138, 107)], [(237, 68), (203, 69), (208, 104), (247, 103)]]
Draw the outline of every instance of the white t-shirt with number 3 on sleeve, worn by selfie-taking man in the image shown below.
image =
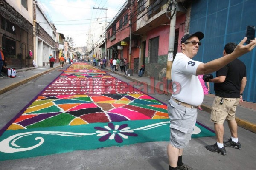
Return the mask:
[(201, 63), (183, 53), (176, 54), (171, 71), (173, 98), (190, 105), (201, 105), (204, 92), (196, 76), (196, 69)]

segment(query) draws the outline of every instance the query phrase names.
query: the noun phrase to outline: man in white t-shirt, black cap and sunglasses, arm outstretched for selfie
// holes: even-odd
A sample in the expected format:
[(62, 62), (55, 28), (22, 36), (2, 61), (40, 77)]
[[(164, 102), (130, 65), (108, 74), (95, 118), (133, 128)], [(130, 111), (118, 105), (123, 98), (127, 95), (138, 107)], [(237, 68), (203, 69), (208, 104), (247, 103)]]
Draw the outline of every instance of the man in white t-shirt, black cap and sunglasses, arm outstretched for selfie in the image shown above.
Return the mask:
[(183, 164), (182, 153), (191, 139), (197, 118), (197, 106), (203, 102), (203, 88), (197, 75), (209, 74), (227, 65), (229, 62), (251, 51), (256, 39), (244, 46), (244, 38), (233, 53), (207, 62), (206, 64), (192, 60), (197, 54), (204, 38), (202, 32), (186, 34), (181, 38), (181, 53), (177, 53), (172, 64), (173, 94), (168, 102), (170, 118), (170, 142), (167, 146), (169, 170), (192, 170)]

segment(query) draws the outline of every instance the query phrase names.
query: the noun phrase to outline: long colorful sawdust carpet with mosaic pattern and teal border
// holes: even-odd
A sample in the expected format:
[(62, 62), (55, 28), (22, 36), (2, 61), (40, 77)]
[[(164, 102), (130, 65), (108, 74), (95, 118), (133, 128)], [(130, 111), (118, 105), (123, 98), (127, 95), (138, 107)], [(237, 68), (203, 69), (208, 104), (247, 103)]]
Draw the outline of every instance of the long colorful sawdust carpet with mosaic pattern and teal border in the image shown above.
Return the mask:
[[(166, 109), (106, 72), (74, 63), (6, 125), (0, 161), (168, 141)], [(192, 137), (204, 136), (215, 134), (197, 123)]]

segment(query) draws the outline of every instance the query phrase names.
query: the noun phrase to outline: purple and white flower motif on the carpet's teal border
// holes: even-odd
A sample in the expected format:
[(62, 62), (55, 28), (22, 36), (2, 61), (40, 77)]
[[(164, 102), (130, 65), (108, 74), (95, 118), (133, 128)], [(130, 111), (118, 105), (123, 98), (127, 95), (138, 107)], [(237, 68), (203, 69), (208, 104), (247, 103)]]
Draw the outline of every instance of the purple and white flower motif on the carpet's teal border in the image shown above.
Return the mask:
[(123, 139), (128, 139), (128, 136), (138, 136), (136, 133), (133, 133), (133, 130), (130, 130), (130, 127), (127, 126), (127, 124), (114, 126), (113, 123), (108, 123), (108, 126), (94, 127), (94, 129), (97, 130), (96, 133), (99, 133), (97, 136), (102, 136), (99, 138), (100, 142), (104, 142), (107, 139), (115, 139), (117, 143), (122, 143)]

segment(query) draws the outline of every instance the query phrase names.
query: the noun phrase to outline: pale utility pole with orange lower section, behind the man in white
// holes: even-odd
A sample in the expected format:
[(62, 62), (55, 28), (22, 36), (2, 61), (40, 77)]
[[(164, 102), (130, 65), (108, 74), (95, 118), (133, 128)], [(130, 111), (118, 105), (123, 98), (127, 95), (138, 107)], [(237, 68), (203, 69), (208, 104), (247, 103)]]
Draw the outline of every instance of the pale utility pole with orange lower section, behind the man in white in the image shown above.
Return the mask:
[(167, 66), (166, 66), (166, 80), (168, 85), (167, 87), (169, 87), (169, 84), (171, 84), (172, 82), (171, 70), (172, 70), (172, 62), (173, 62), (175, 25), (176, 25), (176, 0), (172, 0), (170, 5), (168, 6), (167, 12), (170, 12), (170, 11), (172, 11), (173, 14), (170, 18), (171, 21), (170, 21), (169, 47), (168, 47), (168, 58), (167, 58)]

